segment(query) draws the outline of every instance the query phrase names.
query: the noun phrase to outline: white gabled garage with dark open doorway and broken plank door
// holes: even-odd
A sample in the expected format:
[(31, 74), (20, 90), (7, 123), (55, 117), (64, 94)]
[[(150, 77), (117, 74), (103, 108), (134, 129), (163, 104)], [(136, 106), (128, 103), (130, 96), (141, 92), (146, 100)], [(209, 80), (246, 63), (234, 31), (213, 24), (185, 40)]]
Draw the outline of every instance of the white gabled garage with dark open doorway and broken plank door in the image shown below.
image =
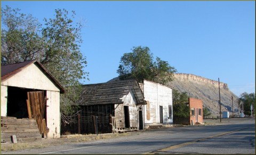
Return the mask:
[[(65, 89), (36, 60), (1, 66), (2, 127), (26, 132), (21, 123), (34, 118), (43, 137), (60, 137), (60, 93)], [(7, 120), (13, 120), (13, 128)]]

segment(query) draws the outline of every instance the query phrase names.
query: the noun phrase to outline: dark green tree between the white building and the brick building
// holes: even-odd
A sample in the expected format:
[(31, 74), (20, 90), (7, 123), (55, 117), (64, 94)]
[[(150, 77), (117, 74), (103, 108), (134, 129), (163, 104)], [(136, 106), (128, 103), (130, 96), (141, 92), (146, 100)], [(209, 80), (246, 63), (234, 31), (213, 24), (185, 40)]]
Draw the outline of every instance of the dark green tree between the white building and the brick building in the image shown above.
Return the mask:
[(189, 118), (190, 109), (188, 106), (188, 94), (186, 92), (178, 92), (176, 89), (172, 90), (172, 106), (173, 106), (173, 121), (174, 124), (179, 123), (181, 119)]

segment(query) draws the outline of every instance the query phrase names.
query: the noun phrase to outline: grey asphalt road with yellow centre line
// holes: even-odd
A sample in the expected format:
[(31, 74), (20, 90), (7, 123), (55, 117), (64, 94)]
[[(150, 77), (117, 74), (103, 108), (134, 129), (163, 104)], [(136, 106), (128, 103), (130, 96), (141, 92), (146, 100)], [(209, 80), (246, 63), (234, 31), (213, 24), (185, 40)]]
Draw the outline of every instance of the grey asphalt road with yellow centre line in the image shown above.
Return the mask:
[(255, 154), (255, 119), (242, 119), (225, 125), (154, 129), (133, 136), (10, 153)]

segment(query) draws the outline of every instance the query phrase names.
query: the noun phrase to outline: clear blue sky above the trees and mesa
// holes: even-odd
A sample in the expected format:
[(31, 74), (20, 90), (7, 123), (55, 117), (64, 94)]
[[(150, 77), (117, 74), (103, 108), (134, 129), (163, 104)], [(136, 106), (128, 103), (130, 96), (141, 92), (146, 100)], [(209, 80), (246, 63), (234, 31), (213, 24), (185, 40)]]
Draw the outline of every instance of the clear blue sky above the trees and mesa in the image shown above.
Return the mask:
[(90, 81), (118, 74), (121, 56), (148, 46), (180, 73), (227, 83), (237, 96), (255, 93), (254, 1), (1, 1), (39, 22), (54, 9), (83, 20), (81, 52)]

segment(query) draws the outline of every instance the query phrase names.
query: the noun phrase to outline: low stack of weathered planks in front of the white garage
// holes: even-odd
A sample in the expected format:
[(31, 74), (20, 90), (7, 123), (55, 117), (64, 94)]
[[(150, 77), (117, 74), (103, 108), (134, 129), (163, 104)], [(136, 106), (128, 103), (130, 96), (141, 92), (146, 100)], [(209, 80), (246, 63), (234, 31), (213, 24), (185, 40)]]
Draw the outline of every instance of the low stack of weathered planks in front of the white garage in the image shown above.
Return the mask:
[(1, 143), (35, 142), (41, 139), (36, 120), (1, 116)]

